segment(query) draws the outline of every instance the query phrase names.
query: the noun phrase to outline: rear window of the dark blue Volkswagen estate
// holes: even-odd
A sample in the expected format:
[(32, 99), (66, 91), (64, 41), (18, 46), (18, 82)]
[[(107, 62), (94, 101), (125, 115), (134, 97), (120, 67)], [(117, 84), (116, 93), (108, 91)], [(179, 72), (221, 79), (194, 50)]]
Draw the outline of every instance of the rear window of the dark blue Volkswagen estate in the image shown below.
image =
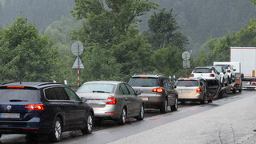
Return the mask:
[(39, 102), (39, 90), (0, 89), (0, 102)]

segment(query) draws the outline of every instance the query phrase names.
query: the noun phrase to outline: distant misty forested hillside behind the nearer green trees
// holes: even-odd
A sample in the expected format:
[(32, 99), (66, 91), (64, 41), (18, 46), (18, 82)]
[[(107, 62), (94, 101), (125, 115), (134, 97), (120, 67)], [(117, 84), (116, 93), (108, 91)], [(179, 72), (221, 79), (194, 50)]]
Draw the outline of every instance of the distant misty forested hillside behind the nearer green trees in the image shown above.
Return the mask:
[[(198, 53), (208, 38), (222, 37), (228, 32), (241, 30), (255, 18), (256, 6), (249, 0), (154, 0), (159, 8), (173, 8), (173, 13), (190, 44), (188, 50)], [(13, 22), (22, 15), (34, 22), (39, 31), (46, 29), (51, 22), (62, 15), (70, 16), (73, 0), (0, 0), (0, 27)], [(146, 30), (146, 20), (150, 13), (142, 17), (140, 30)]]

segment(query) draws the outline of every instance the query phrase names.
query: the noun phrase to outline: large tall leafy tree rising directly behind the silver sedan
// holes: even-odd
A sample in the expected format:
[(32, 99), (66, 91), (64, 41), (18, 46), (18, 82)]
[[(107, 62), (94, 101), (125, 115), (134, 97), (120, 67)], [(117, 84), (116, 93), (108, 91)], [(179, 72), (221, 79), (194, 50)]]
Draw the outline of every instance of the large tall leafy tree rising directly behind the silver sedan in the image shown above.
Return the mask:
[(72, 39), (83, 42), (86, 64), (82, 78), (127, 81), (131, 74), (150, 70), (152, 54), (146, 38), (139, 34), (139, 16), (158, 6), (148, 0), (74, 0), (72, 15), (85, 18)]

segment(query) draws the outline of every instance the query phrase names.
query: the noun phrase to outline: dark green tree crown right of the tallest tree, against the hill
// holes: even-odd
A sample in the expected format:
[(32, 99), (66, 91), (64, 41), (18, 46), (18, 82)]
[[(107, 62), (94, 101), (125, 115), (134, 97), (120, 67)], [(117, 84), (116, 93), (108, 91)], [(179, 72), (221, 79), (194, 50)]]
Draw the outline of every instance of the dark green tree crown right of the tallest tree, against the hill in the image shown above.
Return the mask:
[(148, 20), (149, 30), (146, 32), (146, 37), (154, 50), (168, 45), (177, 46), (183, 50), (187, 44), (186, 36), (178, 31), (179, 26), (173, 17), (172, 11), (172, 9), (166, 10), (164, 8), (158, 13), (154, 12)]

